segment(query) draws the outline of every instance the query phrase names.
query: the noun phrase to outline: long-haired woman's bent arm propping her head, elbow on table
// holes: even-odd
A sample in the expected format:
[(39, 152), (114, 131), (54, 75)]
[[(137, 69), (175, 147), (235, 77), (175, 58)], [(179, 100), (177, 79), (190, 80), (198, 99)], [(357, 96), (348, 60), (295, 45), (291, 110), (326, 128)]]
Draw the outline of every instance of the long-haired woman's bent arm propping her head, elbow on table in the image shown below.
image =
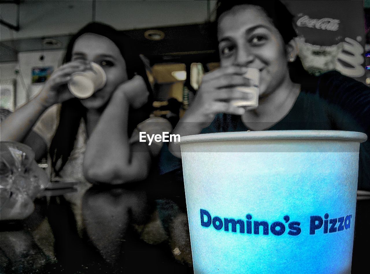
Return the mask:
[(127, 133), (129, 106), (142, 106), (147, 96), (140, 76), (117, 88), (86, 146), (83, 171), (88, 181), (123, 184), (147, 178), (151, 166), (148, 146), (130, 144)]

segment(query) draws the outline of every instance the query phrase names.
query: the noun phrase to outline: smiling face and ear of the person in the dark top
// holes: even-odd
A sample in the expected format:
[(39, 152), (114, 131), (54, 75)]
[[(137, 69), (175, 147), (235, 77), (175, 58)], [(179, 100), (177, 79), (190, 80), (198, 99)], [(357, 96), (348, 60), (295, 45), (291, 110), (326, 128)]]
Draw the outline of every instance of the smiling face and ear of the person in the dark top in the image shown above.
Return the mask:
[(294, 40), (284, 44), (262, 9), (248, 5), (233, 7), (219, 18), (218, 37), (222, 67), (239, 66), (260, 71), (260, 97), (292, 90), (287, 77), (287, 56), (295, 58), (297, 46)]

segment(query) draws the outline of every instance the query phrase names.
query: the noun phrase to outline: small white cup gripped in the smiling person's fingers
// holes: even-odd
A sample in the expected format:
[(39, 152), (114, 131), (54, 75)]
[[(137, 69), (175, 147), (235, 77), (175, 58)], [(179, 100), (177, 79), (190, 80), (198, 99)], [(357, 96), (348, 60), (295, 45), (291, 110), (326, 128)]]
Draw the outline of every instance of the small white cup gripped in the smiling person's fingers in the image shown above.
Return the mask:
[(232, 104), (236, 107), (258, 107), (259, 96), (259, 70), (256, 68), (248, 68), (243, 75), (250, 80), (250, 87), (238, 87), (237, 89), (251, 94), (253, 97), (250, 100), (233, 100)]

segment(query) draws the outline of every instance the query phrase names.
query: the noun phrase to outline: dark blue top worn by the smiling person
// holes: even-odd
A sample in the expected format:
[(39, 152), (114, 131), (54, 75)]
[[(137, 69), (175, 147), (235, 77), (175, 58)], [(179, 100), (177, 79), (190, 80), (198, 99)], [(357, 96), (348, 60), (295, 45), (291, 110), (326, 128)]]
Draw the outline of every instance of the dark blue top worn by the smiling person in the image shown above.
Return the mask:
[[(246, 130), (240, 116), (217, 114), (201, 133)], [(337, 71), (308, 78), (289, 113), (268, 130), (348, 130), (370, 136), (370, 88)], [(177, 170), (177, 180), (183, 181), (181, 159), (169, 152), (166, 143), (159, 165), (161, 174)], [(369, 140), (360, 145), (358, 188), (370, 190)]]

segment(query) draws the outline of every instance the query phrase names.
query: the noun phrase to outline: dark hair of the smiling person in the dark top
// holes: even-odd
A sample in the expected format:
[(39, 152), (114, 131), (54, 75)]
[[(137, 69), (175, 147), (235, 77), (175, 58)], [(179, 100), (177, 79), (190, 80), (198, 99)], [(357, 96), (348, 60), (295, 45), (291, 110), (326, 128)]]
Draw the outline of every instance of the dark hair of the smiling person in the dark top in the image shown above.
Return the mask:
[[(297, 37), (293, 27), (294, 16), (279, 0), (239, 0), (239, 1), (217, 1), (216, 22), (221, 15), (238, 5), (259, 6), (265, 11), (266, 15), (272, 20), (272, 24), (279, 31), (285, 44), (288, 44), (294, 37)], [(288, 63), (290, 79), (295, 83), (307, 81), (310, 75), (303, 68), (300, 58), (297, 56), (294, 62)]]

